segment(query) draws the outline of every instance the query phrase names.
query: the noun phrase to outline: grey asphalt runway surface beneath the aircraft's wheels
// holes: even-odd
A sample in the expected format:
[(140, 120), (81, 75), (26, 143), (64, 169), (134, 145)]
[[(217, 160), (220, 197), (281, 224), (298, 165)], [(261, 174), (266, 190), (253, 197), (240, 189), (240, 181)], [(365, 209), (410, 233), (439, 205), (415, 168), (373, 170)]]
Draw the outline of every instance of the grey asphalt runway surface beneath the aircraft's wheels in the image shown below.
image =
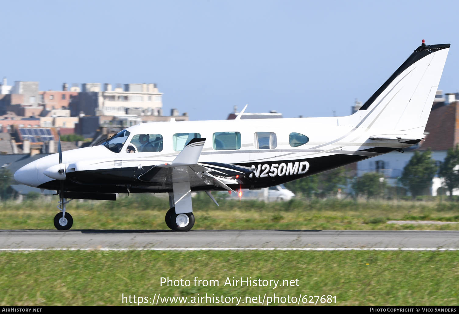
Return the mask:
[(0, 250), (22, 249), (459, 249), (459, 231), (0, 230)]

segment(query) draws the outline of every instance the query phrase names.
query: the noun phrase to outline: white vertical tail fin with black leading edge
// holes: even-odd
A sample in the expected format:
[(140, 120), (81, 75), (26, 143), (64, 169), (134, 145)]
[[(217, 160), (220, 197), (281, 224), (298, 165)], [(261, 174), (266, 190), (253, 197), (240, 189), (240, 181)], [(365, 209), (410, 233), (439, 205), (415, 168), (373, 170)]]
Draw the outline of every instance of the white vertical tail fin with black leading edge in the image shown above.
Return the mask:
[[(423, 134), (450, 44), (421, 45), (356, 112), (357, 127)], [(354, 117), (353, 117), (354, 118)], [(378, 133), (375, 133), (378, 134)]]

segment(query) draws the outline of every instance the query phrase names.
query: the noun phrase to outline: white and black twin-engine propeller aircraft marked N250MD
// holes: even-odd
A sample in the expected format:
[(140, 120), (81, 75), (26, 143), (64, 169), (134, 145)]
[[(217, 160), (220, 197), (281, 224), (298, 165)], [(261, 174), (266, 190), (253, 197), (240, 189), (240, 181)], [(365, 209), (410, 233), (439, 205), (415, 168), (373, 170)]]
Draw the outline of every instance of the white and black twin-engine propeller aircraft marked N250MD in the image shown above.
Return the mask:
[(144, 123), (98, 146), (62, 152), (59, 141), (57, 154), (20, 168), (14, 179), (59, 193), (58, 230), (73, 224), (67, 199), (166, 192), (166, 224), (188, 231), (191, 191), (206, 191), (217, 204), (210, 191), (279, 185), (418, 143), (448, 50), (423, 40), (351, 116), (241, 120), (241, 112), (235, 120)]

